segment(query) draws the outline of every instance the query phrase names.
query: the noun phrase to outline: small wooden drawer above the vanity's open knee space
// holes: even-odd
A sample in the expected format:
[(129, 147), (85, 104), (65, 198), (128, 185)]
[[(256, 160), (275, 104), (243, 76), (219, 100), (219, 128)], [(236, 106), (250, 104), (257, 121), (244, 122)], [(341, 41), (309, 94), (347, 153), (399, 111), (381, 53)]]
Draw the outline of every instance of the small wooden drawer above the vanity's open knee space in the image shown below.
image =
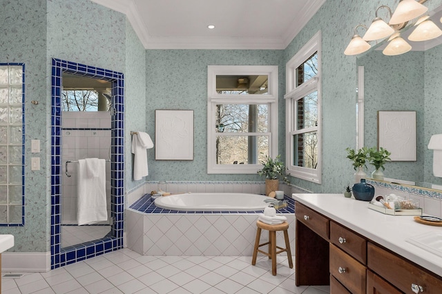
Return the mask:
[(330, 221), (299, 202), (295, 202), (296, 219), (305, 224), (325, 240), (329, 240)]

